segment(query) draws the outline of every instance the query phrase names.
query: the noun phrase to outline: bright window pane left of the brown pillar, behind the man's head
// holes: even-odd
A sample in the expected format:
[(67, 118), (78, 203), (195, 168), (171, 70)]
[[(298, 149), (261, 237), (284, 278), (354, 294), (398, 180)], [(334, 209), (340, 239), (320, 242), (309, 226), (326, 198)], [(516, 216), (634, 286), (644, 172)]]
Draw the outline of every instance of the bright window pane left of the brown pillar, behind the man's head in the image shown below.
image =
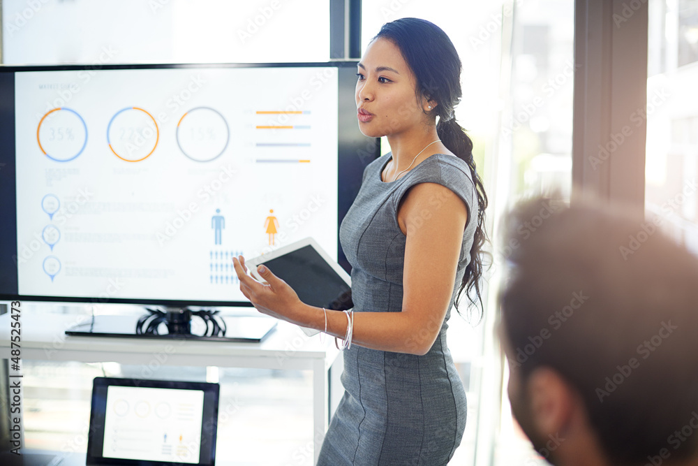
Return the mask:
[[(574, 1), (514, 1), (511, 66), (500, 129), (496, 179), (500, 210), (521, 198), (554, 196), (569, 201), (572, 185), (572, 102), (574, 92)], [(504, 52), (503, 52), (504, 53)], [(502, 80), (507, 78), (502, 73)], [(499, 218), (496, 221), (500, 221)], [(497, 224), (495, 225), (497, 226)], [(498, 232), (493, 233), (498, 238)], [(524, 238), (522, 238), (524, 239)], [(495, 249), (495, 264), (511, 253)], [(497, 270), (494, 279), (499, 282)], [(508, 367), (504, 367), (506, 392)], [(502, 395), (496, 466), (547, 464), (512, 418)]]

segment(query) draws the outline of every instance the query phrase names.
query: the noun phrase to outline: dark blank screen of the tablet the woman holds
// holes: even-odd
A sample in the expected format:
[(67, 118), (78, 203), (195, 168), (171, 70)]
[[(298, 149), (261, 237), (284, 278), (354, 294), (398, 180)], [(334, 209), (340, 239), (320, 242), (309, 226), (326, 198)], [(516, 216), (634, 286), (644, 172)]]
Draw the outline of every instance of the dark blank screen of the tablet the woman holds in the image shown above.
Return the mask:
[(354, 305), (351, 288), (312, 246), (264, 261), (304, 303), (329, 310), (347, 310)]

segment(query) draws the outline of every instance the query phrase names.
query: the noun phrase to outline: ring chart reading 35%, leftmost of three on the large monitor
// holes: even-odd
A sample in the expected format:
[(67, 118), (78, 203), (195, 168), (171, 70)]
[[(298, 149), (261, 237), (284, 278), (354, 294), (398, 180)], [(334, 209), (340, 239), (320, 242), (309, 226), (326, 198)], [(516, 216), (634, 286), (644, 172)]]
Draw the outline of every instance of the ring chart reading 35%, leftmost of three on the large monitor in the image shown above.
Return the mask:
[(87, 145), (87, 124), (72, 108), (54, 108), (41, 117), (36, 127), (36, 142), (49, 159), (71, 161)]

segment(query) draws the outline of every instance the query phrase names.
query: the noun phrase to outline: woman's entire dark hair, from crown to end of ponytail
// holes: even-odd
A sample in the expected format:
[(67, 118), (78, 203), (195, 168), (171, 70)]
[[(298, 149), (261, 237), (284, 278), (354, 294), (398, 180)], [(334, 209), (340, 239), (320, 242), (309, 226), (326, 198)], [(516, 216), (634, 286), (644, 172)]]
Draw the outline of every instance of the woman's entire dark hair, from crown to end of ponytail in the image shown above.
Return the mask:
[[(488, 255), (482, 249), (487, 242), (487, 233), (484, 230), (487, 194), (484, 192), (482, 179), (475, 169), (473, 141), (468, 138), (454, 117), (454, 107), (458, 105), (463, 95), (461, 59), (446, 33), (436, 24), (426, 20), (406, 17), (389, 22), (380, 28), (373, 40), (376, 38), (386, 38), (400, 49), (403, 58), (417, 78), (417, 99), (426, 96), (427, 99), (437, 103), (436, 108), (431, 110), (429, 115), (438, 116), (436, 132), (441, 142), (470, 167), (470, 175), (477, 191), (477, 228), (473, 247), (470, 249), (470, 263), (466, 267), (463, 282), (458, 289), (456, 309), (460, 303), (461, 293), (466, 290), (470, 303), (480, 304), (480, 314), (477, 316), (477, 321), (480, 321), (483, 310), (480, 279), (484, 256)], [(474, 210), (473, 206), (470, 208)]]

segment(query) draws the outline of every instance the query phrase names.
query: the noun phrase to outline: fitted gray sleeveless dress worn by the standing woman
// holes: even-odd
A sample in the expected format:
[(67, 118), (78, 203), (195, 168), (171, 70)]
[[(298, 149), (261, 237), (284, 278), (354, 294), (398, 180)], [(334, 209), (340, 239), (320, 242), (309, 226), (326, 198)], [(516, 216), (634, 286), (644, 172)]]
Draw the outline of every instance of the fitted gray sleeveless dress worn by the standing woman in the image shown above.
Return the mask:
[[(455, 156), (435, 154), (401, 179), (383, 182), (380, 173), (389, 159), (380, 157), (366, 167), (340, 229), (341, 245), (352, 265), (354, 312), (401, 312), (406, 236), (397, 223), (397, 209), (410, 187), (426, 182), (442, 184), (468, 207), (450, 309), (470, 261), (477, 224), (470, 169)], [(435, 206), (440, 202), (432, 201)], [(345, 393), (325, 435), (318, 466), (448, 463), (466, 424), (466, 394), (446, 346), (449, 316), (450, 311), (424, 356), (356, 345), (344, 351)]]

